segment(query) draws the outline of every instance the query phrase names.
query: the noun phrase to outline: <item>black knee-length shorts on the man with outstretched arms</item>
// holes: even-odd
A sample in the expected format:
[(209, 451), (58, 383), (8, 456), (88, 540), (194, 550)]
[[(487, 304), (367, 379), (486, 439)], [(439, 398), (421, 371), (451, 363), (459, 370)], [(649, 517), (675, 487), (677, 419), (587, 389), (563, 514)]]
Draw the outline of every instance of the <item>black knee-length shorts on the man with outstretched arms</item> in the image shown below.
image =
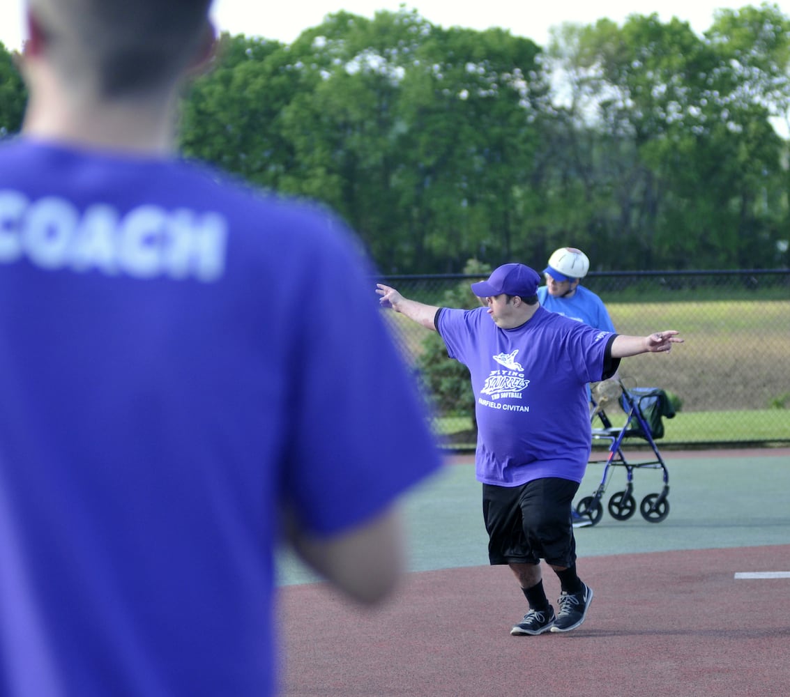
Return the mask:
[(483, 520), (491, 564), (576, 561), (570, 508), (579, 489), (570, 479), (536, 479), (521, 486), (483, 484)]

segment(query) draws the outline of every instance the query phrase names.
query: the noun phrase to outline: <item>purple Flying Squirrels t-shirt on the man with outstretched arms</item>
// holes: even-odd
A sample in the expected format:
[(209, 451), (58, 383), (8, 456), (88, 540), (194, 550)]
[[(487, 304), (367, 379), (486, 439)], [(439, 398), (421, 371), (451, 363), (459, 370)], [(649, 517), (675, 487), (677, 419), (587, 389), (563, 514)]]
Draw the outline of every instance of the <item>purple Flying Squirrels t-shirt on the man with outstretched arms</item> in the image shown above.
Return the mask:
[(541, 307), (513, 329), (498, 328), (483, 307), (442, 309), (437, 328), (450, 358), (471, 374), (477, 479), (581, 482), (592, 444), (586, 384), (604, 377), (615, 334)]

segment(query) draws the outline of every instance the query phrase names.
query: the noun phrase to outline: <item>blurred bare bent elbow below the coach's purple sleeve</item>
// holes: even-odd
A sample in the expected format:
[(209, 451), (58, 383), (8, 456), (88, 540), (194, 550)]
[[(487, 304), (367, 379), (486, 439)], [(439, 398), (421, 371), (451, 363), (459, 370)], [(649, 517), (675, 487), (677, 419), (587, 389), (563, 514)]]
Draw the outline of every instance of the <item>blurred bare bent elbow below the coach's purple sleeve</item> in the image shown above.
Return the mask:
[(355, 601), (383, 600), (404, 571), (404, 532), (396, 505), (327, 538), (307, 534), (293, 516), (286, 515), (284, 524), (286, 538), (302, 560)]

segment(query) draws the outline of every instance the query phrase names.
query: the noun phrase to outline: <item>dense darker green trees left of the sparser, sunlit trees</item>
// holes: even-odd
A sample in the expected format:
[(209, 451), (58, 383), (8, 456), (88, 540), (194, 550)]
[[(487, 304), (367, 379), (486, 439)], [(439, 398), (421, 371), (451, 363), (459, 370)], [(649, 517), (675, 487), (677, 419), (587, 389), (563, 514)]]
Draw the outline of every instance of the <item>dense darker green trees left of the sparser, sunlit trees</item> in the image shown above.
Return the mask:
[(534, 43), (401, 9), (329, 15), (290, 47), (223, 44), (184, 109), (187, 154), (324, 201), (388, 272), (510, 255), (545, 93)]

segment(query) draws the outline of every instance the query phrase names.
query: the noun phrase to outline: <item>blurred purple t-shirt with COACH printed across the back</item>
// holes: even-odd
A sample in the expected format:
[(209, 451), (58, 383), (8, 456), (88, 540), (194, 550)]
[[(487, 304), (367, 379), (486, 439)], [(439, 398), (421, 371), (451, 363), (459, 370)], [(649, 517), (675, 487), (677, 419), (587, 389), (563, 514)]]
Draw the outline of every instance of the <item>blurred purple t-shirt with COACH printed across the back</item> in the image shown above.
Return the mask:
[(269, 695), (273, 551), (440, 458), (352, 235), (177, 159), (0, 147), (9, 695)]

